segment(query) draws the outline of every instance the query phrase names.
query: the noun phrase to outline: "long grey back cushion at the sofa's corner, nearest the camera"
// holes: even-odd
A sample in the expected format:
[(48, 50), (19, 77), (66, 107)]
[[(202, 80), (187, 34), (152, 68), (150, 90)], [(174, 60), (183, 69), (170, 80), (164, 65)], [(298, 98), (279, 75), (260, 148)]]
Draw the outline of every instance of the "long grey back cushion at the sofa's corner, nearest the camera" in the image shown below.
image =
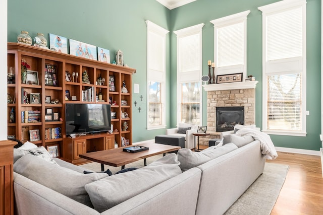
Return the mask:
[(109, 176), (85, 185), (94, 208), (102, 212), (181, 174), (175, 154), (169, 154), (150, 165)]

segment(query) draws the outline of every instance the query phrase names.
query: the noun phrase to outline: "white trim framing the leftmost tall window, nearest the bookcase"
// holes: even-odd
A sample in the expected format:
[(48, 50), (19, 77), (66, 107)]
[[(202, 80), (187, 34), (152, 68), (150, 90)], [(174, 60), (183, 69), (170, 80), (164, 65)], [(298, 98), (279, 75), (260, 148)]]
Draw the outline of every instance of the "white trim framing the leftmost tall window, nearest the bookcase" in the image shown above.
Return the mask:
[[(153, 22), (146, 20), (147, 24), (147, 83), (149, 81), (156, 81), (160, 83), (160, 100), (161, 100), (161, 124), (160, 125), (149, 125), (149, 85), (147, 84), (147, 130), (154, 130), (154, 129), (161, 129), (166, 128), (166, 34), (169, 33), (168, 30), (154, 24)], [(163, 37), (163, 69), (162, 71), (156, 71), (154, 69), (150, 69), (150, 61), (149, 56), (150, 54), (148, 46), (149, 46), (149, 33), (153, 32), (155, 34), (158, 34), (160, 37)], [(151, 73), (158, 72), (158, 76), (152, 76)], [(153, 77), (153, 78), (152, 78)]]

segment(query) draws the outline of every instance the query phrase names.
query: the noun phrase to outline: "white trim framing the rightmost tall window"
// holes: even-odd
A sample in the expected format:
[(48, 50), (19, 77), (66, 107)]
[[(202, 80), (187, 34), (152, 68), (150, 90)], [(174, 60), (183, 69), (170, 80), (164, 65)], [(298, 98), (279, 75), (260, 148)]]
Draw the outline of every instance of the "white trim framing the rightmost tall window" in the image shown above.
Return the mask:
[[(266, 61), (266, 17), (275, 13), (280, 13), (285, 10), (290, 10), (295, 7), (302, 7), (302, 23), (303, 23), (303, 47), (301, 57), (291, 57), (287, 59), (279, 59)], [(289, 135), (289, 136), (306, 136), (306, 0), (283, 0), (277, 3), (259, 7), (258, 10), (262, 12), (262, 128), (263, 132), (267, 134)], [(294, 68), (293, 71), (300, 70), (302, 73), (302, 130), (301, 131), (287, 131), (287, 130), (268, 130), (267, 129), (267, 76), (286, 74), (288, 71), (280, 69), (279, 64), (288, 65), (298, 62), (301, 69)], [(267, 71), (268, 67), (272, 67), (271, 71)]]

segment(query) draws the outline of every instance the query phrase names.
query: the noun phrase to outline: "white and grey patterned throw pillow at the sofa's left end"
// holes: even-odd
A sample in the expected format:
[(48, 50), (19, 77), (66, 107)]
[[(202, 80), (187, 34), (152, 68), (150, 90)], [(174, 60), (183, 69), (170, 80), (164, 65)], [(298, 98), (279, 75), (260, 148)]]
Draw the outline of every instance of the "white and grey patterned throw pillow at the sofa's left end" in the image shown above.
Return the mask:
[[(25, 145), (25, 144), (24, 144)], [(36, 156), (38, 158), (41, 158), (49, 163), (58, 165), (51, 157), (51, 155), (48, 153), (48, 151), (43, 147), (36, 147), (32, 149), (22, 150), (22, 147), (18, 149), (14, 149), (14, 163), (20, 159), (22, 156), (26, 154), (31, 154), (33, 156)]]

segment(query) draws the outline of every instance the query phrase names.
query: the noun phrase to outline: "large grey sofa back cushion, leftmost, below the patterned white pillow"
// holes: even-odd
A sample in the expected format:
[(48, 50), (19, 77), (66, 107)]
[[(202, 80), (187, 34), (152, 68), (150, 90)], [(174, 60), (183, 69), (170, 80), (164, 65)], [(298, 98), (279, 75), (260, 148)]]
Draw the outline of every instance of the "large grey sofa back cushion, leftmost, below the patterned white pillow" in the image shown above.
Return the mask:
[(78, 173), (29, 154), (14, 164), (14, 171), (90, 207), (93, 206), (84, 185), (107, 177), (105, 173)]

